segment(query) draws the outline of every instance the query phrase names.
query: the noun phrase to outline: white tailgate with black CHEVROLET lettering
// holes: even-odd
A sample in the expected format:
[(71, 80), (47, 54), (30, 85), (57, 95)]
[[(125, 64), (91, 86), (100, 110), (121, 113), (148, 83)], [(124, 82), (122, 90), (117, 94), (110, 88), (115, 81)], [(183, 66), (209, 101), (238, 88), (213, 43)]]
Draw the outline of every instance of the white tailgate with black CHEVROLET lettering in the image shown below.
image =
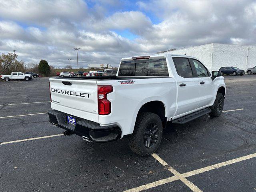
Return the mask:
[(50, 78), (52, 109), (98, 122), (96, 80)]

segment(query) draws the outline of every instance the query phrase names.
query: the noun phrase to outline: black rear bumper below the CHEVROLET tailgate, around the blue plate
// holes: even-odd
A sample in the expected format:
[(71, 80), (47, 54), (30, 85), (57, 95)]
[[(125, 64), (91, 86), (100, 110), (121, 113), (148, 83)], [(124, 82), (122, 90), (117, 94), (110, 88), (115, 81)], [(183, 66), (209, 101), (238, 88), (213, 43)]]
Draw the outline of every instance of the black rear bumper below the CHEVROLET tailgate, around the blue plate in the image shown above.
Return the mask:
[(69, 114), (57, 110), (48, 110), (48, 115), (50, 123), (70, 131), (72, 134), (86, 137), (90, 141), (103, 143), (118, 140), (121, 137), (121, 129), (116, 124), (100, 126), (96, 122), (73, 116), (76, 118), (76, 126), (74, 126), (66, 122), (66, 116)]

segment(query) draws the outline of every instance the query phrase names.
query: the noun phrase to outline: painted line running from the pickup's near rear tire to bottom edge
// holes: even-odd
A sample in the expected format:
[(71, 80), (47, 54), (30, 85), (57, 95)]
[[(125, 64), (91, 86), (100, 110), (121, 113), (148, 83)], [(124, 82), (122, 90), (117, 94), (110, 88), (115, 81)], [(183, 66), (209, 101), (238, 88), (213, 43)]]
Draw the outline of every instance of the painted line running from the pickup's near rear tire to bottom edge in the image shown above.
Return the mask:
[(168, 170), (174, 174), (174, 176), (177, 176), (179, 180), (181, 180), (186, 186), (188, 186), (192, 191), (194, 192), (202, 192), (195, 184), (190, 182), (188, 179), (186, 179), (182, 174), (180, 174), (178, 171), (176, 171), (174, 168), (169, 166), (162, 158), (160, 158), (157, 154), (152, 154), (152, 157), (154, 157), (158, 162), (160, 162), (163, 166), (168, 166)]

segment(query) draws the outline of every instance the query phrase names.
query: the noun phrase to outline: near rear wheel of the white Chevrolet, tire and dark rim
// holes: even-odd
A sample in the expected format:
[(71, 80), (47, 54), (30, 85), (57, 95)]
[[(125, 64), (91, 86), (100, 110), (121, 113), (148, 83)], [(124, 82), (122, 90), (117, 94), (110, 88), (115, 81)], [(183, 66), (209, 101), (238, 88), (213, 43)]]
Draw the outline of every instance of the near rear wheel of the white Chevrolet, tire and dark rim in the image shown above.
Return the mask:
[(160, 117), (154, 113), (142, 112), (136, 119), (129, 147), (140, 156), (148, 156), (157, 150), (162, 134), (163, 125)]

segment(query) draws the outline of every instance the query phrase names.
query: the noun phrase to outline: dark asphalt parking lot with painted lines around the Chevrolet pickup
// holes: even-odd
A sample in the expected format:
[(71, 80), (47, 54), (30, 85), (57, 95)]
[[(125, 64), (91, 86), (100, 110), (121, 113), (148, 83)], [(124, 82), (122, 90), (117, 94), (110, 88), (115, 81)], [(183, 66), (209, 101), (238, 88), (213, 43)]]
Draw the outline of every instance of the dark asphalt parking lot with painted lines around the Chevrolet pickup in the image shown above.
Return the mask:
[(224, 112), (168, 124), (156, 154), (63, 136), (48, 78), (0, 82), (0, 191), (256, 191), (256, 75), (224, 76)]

